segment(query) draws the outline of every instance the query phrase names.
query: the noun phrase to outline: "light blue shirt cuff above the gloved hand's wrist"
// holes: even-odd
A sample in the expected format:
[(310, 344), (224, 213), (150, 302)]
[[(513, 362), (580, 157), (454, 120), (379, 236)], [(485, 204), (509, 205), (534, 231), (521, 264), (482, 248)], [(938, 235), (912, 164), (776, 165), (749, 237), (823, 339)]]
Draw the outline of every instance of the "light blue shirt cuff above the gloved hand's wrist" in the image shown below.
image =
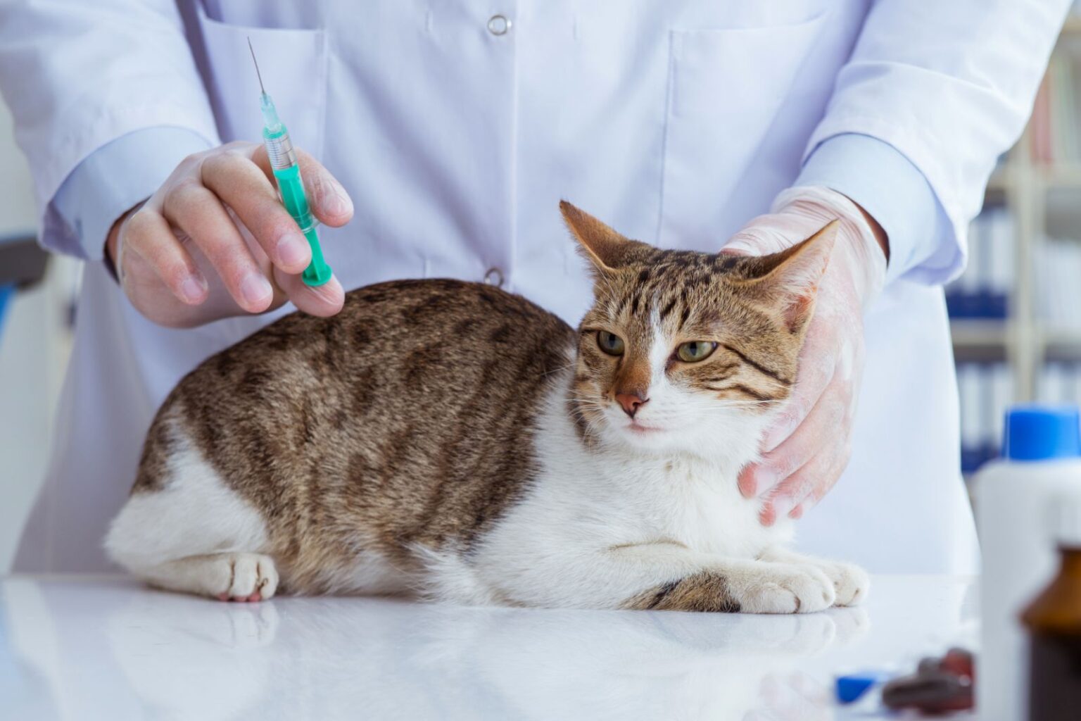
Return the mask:
[(823, 141), (793, 186), (819, 185), (858, 203), (890, 238), (886, 282), (945, 283), (964, 267), (964, 249), (923, 173), (889, 143), (845, 133)]

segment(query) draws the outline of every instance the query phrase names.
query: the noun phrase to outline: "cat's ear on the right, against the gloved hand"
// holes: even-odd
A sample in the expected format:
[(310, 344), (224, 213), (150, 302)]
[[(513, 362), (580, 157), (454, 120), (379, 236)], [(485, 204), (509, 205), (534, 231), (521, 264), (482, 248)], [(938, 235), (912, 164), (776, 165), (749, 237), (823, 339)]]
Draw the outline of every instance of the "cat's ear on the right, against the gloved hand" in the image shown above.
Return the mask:
[(780, 310), (792, 332), (803, 330), (814, 312), (818, 283), (829, 265), (837, 240), (839, 221), (831, 221), (816, 233), (772, 255), (748, 257), (744, 262), (748, 290)]

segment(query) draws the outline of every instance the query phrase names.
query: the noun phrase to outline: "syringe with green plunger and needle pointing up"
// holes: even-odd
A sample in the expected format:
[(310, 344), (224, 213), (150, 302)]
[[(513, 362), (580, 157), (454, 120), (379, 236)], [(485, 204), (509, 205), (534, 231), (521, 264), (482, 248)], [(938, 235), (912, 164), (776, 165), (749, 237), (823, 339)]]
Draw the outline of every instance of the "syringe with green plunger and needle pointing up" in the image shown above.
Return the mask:
[(296, 225), (301, 226), (301, 232), (308, 239), (308, 245), (311, 246), (311, 263), (304, 269), (301, 278), (305, 285), (322, 285), (331, 279), (332, 271), (323, 259), (323, 249), (319, 245), (319, 236), (316, 233), (318, 223), (311, 215), (308, 198), (304, 195), (304, 181), (301, 178), (301, 165), (296, 162), (296, 151), (293, 149), (293, 142), (289, 138), (285, 124), (278, 119), (278, 110), (273, 107), (273, 101), (263, 88), (263, 76), (259, 74), (259, 64), (255, 59), (255, 50), (252, 48), (251, 38), (248, 39), (248, 49), (252, 51), (252, 62), (255, 63), (255, 75), (259, 79), (259, 91), (262, 92), (259, 110), (263, 112), (263, 144), (267, 148), (270, 168), (278, 181), (281, 202), (296, 221)]

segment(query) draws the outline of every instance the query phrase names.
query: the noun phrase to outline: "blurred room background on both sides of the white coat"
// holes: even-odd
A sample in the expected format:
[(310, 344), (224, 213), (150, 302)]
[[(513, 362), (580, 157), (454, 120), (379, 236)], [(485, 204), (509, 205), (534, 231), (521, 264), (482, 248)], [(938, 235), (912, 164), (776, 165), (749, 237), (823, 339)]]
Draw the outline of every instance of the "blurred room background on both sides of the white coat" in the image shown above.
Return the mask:
[[(1081, 403), (1081, 0), (1032, 119), (1000, 160), (947, 289), (961, 468), (995, 457), (1007, 405)], [(80, 264), (34, 244), (26, 161), (0, 102), (0, 573), (44, 477), (77, 312)]]

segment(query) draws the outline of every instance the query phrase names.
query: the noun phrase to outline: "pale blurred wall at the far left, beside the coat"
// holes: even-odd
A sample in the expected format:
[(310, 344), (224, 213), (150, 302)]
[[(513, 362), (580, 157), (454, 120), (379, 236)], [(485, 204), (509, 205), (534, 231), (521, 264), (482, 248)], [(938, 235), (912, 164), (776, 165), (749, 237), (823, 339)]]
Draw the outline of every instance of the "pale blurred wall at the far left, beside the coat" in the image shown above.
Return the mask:
[[(0, 102), (0, 235), (32, 230), (26, 159)], [(0, 331), (0, 573), (5, 572), (49, 460), (52, 413), (70, 349), (68, 305), (78, 264), (53, 258), (44, 283), (17, 293)]]

